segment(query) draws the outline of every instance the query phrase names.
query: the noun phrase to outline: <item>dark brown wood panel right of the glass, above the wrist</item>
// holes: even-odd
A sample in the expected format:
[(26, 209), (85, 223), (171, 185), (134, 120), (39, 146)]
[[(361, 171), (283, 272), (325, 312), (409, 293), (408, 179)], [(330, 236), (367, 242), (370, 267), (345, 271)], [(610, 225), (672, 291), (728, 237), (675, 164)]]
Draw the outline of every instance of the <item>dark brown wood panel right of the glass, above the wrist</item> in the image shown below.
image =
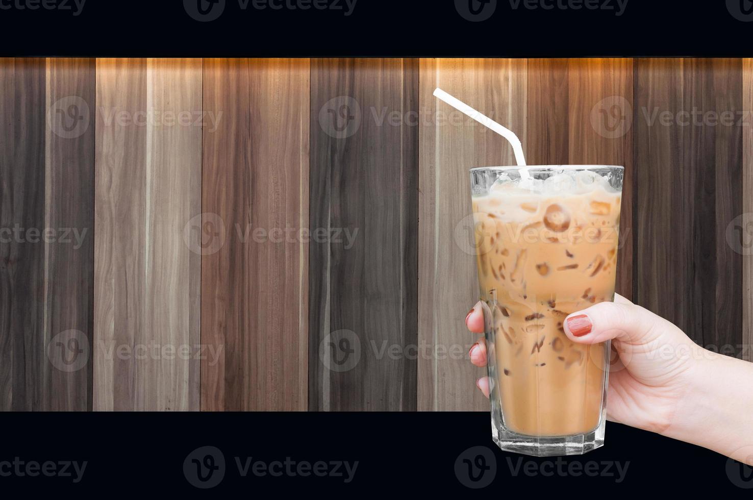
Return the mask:
[(742, 127), (704, 116), (742, 110), (742, 61), (638, 59), (635, 100), (636, 302), (739, 353), (742, 256), (725, 231), (742, 211)]

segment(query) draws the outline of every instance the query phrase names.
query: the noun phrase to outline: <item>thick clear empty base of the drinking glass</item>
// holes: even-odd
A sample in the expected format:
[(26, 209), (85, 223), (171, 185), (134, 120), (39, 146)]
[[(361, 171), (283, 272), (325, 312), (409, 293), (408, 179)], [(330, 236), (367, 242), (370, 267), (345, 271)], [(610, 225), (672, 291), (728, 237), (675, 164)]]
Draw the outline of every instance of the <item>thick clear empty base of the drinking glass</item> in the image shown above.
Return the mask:
[(583, 455), (604, 446), (603, 422), (594, 431), (571, 436), (526, 436), (506, 429), (493, 434), (501, 450), (529, 456)]

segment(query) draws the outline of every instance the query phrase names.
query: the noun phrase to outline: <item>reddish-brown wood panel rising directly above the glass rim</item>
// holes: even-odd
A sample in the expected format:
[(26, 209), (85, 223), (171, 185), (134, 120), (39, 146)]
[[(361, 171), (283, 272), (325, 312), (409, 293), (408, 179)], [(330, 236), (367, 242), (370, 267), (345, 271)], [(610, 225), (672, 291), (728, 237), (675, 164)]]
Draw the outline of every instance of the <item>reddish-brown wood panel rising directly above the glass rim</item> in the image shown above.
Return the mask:
[(625, 167), (617, 293), (633, 297), (633, 59), (529, 59), (529, 165)]

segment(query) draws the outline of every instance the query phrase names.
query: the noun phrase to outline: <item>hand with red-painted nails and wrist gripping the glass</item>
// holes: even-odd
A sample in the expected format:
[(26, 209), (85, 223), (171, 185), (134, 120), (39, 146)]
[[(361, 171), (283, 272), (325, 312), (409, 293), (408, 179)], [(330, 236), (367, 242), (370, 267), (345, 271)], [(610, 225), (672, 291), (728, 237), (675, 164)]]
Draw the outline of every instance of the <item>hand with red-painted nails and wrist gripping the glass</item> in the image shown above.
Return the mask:
[[(483, 334), (482, 303), (465, 319)], [(612, 340), (607, 419), (715, 450), (753, 465), (753, 363), (698, 346), (671, 322), (620, 295), (573, 313), (565, 333), (582, 344)], [(486, 367), (486, 340), (471, 347)], [(476, 383), (489, 397), (489, 378)]]

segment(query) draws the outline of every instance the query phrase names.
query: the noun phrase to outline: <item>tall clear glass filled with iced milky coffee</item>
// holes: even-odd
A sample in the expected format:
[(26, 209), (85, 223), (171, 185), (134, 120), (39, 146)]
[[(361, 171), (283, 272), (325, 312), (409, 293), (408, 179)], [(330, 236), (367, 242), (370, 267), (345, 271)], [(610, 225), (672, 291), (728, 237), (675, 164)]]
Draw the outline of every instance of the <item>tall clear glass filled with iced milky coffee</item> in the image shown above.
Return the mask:
[[(500, 167), (471, 176), (495, 425), (511, 442), (535, 437), (533, 454), (598, 447), (609, 347), (573, 343), (563, 322), (614, 299), (623, 169)], [(539, 438), (553, 438), (548, 452)]]

